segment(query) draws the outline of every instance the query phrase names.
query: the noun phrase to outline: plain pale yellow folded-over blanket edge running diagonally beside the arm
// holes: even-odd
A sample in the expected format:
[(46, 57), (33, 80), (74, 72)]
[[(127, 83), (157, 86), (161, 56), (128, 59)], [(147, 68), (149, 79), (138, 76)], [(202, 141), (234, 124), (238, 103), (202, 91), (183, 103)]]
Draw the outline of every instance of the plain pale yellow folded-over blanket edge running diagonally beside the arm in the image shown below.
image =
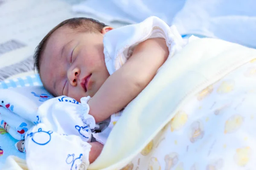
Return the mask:
[[(216, 39), (190, 42), (169, 58), (113, 128), (90, 170), (128, 164), (191, 96), (256, 58), (256, 50)], [(171, 101), (171, 102), (170, 102)]]

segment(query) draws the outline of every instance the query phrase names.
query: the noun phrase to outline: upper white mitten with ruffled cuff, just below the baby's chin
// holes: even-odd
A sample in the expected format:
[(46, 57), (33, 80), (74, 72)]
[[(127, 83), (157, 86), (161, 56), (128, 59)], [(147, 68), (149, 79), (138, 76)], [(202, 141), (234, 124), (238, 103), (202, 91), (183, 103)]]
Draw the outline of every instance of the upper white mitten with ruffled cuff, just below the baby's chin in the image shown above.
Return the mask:
[(67, 96), (55, 97), (38, 108), (41, 123), (53, 132), (80, 136), (85, 142), (91, 140), (91, 129), (96, 126), (95, 119), (89, 115), (90, 96), (81, 98), (81, 103)]

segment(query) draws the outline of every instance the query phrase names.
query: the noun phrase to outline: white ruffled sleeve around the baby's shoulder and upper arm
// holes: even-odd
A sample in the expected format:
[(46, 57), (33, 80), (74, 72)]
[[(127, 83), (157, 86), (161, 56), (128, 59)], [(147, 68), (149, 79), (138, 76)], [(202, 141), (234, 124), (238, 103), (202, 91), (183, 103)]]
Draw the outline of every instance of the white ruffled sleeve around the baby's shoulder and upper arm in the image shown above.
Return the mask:
[(109, 74), (113, 74), (131, 57), (140, 42), (163, 38), (169, 48), (169, 57), (186, 45), (175, 26), (169, 27), (158, 17), (149, 17), (141, 23), (113, 29), (105, 34), (104, 54)]

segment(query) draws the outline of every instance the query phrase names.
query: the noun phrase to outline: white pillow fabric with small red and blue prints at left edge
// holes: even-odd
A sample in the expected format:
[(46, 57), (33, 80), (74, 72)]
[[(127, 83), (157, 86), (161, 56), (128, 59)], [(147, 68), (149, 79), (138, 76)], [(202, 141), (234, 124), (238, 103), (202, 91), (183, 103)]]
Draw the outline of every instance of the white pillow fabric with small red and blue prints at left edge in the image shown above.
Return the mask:
[(0, 126), (23, 140), (26, 131), (40, 123), (38, 107), (52, 97), (43, 86), (0, 89)]

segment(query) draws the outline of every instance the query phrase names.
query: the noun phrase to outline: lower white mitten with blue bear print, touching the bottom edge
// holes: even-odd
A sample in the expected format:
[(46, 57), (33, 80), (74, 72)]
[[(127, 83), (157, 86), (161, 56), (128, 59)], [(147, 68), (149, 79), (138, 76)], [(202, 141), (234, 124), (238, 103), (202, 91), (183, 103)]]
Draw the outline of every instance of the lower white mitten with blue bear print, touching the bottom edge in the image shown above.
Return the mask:
[(87, 170), (91, 145), (79, 136), (52, 132), (39, 123), (25, 136), (29, 170)]

